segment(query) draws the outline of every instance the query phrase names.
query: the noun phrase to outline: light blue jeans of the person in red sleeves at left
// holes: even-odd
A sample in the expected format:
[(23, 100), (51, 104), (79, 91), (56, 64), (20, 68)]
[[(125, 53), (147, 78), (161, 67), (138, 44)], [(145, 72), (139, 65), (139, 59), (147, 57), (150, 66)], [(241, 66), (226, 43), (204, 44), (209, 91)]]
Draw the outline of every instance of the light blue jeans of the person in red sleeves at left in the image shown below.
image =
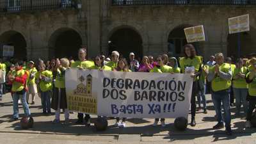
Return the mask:
[(13, 118), (19, 118), (19, 99), (22, 103), (25, 116), (30, 115), (28, 104), (26, 102), (26, 92), (23, 95), (16, 95), (15, 93), (13, 93)]

